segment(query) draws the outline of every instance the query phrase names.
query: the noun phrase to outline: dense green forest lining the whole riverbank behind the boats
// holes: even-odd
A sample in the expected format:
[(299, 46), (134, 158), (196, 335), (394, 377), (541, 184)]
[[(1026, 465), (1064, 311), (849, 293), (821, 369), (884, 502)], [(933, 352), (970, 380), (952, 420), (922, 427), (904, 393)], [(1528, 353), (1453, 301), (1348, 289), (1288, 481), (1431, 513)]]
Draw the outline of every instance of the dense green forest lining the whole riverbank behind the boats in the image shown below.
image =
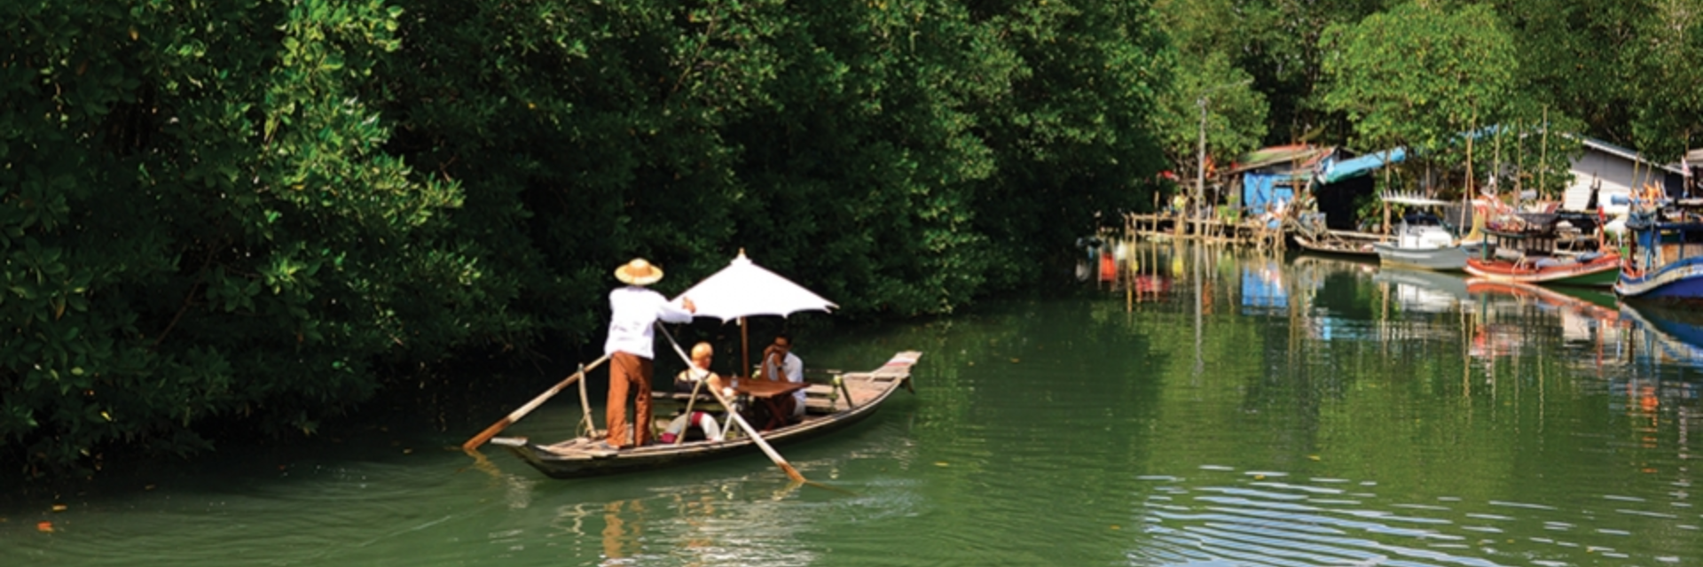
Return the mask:
[(399, 376), (559, 358), (630, 257), (664, 293), (746, 249), (845, 317), (949, 313), (1056, 278), (1202, 133), (1677, 157), (1700, 7), (9, 2), (0, 461), (312, 434)]

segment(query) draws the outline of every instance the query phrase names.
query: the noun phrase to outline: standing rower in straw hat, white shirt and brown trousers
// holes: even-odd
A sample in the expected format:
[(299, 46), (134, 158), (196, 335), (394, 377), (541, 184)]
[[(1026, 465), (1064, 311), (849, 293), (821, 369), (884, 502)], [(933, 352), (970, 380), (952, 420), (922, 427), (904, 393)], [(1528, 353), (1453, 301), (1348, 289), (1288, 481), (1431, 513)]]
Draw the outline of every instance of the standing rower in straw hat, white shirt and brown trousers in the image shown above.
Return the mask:
[[(662, 269), (645, 259), (634, 259), (615, 269), (615, 279), (627, 286), (610, 291), (610, 337), (603, 354), (610, 356), (610, 398), (605, 405), (605, 426), (611, 448), (644, 446), (651, 443), (651, 352), (656, 342), (651, 325), (659, 318), (671, 324), (691, 322), (698, 306), (688, 298), (669, 303), (661, 293), (645, 286), (662, 279)], [(627, 388), (634, 388), (634, 434), (627, 438)]]

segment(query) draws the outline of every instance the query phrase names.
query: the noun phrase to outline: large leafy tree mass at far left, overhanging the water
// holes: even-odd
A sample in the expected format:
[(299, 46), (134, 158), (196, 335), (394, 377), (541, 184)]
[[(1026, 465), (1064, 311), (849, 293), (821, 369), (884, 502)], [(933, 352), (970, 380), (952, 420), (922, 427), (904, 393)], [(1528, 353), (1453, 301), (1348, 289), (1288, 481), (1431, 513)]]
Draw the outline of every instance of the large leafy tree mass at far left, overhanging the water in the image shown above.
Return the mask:
[[(0, 7), (0, 444), (192, 451), (208, 419), (312, 431), (373, 368), (468, 337), (453, 184), (383, 152), (351, 89), (380, 2)], [(431, 306), (429, 310), (422, 306)], [(434, 332), (439, 332), (434, 335)], [(441, 354), (427, 354), (426, 359)]]

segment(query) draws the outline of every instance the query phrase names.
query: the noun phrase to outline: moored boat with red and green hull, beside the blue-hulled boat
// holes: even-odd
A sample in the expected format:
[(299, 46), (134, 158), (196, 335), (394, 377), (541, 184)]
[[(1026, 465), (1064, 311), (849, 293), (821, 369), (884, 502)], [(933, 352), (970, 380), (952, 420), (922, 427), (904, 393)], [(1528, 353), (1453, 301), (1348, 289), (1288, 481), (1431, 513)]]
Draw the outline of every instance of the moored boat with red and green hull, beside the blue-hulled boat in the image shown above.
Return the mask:
[(1618, 252), (1560, 254), (1550, 230), (1485, 235), (1480, 254), (1466, 259), (1466, 272), (1483, 279), (1606, 288), (1620, 278)]

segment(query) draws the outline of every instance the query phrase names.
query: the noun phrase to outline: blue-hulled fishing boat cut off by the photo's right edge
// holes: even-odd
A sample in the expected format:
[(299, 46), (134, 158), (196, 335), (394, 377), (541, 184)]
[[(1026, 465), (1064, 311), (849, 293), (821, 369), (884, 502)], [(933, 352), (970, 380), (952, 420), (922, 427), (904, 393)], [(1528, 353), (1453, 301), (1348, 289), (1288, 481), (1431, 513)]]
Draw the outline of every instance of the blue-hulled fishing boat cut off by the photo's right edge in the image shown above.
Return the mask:
[(1631, 235), (1614, 293), (1623, 298), (1703, 300), (1703, 203), (1660, 209), (1637, 206), (1626, 220)]

